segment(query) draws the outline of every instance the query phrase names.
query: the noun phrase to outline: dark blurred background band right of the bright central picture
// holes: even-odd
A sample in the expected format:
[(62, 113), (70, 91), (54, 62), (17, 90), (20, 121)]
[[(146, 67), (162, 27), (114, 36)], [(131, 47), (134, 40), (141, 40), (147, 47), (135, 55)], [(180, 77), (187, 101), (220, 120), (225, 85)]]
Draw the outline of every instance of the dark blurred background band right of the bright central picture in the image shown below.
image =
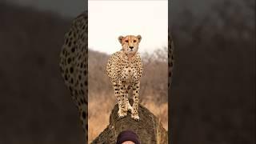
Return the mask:
[(171, 5), (170, 140), (255, 143), (255, 1)]

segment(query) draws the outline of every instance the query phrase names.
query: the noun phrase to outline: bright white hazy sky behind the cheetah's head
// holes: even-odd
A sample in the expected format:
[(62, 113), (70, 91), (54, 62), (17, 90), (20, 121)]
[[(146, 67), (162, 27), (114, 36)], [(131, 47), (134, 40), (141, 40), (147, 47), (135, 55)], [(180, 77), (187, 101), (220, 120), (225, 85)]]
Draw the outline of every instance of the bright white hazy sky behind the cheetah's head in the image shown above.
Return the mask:
[(112, 54), (122, 48), (119, 35), (142, 35), (139, 52), (167, 46), (168, 2), (89, 1), (88, 46)]

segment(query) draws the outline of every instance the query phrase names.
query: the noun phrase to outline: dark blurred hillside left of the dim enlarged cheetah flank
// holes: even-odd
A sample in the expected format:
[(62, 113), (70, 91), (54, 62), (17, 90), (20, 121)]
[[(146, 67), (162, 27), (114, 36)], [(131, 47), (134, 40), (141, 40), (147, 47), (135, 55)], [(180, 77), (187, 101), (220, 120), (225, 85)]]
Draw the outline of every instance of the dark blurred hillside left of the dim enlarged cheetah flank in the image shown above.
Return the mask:
[(71, 22), (0, 2), (0, 144), (84, 143), (58, 68)]

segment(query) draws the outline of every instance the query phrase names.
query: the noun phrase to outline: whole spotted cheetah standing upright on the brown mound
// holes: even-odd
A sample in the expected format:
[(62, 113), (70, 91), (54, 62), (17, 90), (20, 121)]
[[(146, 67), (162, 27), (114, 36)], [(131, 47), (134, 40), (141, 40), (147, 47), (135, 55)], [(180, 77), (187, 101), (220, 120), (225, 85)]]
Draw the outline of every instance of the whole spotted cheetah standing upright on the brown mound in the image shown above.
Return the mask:
[[(140, 78), (142, 77), (142, 59), (138, 54), (138, 45), (141, 42), (140, 35), (119, 36), (118, 41), (122, 50), (112, 54), (106, 65), (106, 73), (114, 88), (114, 95), (118, 99), (118, 116), (123, 118), (127, 111), (131, 111), (131, 118), (139, 120), (138, 93)], [(128, 91), (132, 88), (134, 104), (130, 106)]]

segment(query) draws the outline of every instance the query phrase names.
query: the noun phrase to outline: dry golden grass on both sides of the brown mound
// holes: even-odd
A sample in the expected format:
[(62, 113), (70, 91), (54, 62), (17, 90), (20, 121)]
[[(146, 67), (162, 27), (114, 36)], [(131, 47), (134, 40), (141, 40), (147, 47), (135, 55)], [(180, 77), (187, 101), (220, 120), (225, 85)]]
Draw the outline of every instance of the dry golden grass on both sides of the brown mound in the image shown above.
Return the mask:
[[(108, 94), (111, 98), (100, 98), (98, 95), (91, 95), (89, 99), (89, 142), (92, 142), (94, 138), (98, 136), (109, 124), (110, 113), (114, 108), (116, 99), (113, 94)], [(157, 104), (153, 100), (146, 100), (142, 102), (143, 106), (146, 106), (154, 115), (156, 115), (162, 121), (163, 127), (168, 129), (168, 104)]]

